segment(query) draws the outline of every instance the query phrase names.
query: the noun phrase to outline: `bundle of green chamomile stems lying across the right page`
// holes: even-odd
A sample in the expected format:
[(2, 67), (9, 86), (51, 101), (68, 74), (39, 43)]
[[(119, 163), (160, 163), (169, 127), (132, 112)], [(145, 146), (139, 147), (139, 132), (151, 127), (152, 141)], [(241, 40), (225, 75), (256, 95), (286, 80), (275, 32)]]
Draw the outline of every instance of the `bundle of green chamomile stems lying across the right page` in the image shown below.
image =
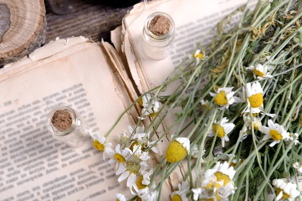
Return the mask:
[[(209, 45), (196, 47), (198, 51), (183, 60), (162, 85), (145, 92), (129, 107), (144, 97), (152, 97), (142, 110), (142, 117), (153, 112), (152, 121), (145, 129), (150, 141), (167, 115), (176, 107), (182, 108), (175, 114), (175, 124), (161, 133), (153, 145), (143, 149), (145, 152), (151, 150), (171, 130), (177, 131), (172, 141), (180, 136), (190, 141), (187, 157), (169, 162), (166, 154), (150, 177), (149, 189), (155, 178), (161, 178), (152, 187), (157, 191), (157, 200), (160, 200), (165, 179), (184, 160), (188, 167), (184, 181), (189, 183), (185, 196), (189, 200), (196, 194), (192, 189), (202, 191), (205, 188), (201, 184), (206, 179), (204, 172), (215, 169), (215, 164), (223, 161), (228, 162), (225, 171), (235, 171), (229, 176), (233, 192), (225, 199), (221, 193), (214, 198), (206, 199), (202, 193), (195, 197), (200, 200), (267, 200), (268, 193), (277, 199), (293, 196), (273, 180), (285, 178), (286, 182), (297, 182), (299, 172), (293, 164), (302, 159), (301, 3), (300, 0), (295, 3), (259, 1), (253, 11), (249, 10), (249, 3), (238, 8), (214, 27)], [(238, 23), (232, 21), (235, 15), (241, 15)], [(231, 22), (232, 27), (224, 30)], [(204, 80), (208, 82), (205, 84)], [(176, 90), (161, 95), (170, 85)], [(188, 89), (190, 93), (186, 94)], [(250, 98), (259, 93), (262, 97)], [(162, 104), (157, 112), (153, 111), (155, 101)], [(253, 107), (253, 103), (262, 105)], [(142, 119), (138, 120), (131, 136)], [(224, 124), (227, 125), (224, 127)], [(228, 126), (231, 131), (226, 132)], [(274, 135), (274, 131), (279, 133)], [(208, 141), (211, 143), (207, 144)], [(226, 142), (228, 146), (224, 145)], [(223, 150), (218, 155), (214, 153), (217, 146)], [(193, 157), (195, 147), (199, 151)], [(234, 168), (230, 169), (231, 166)], [(219, 181), (217, 175), (215, 179)], [(217, 191), (219, 186), (216, 186)], [(181, 195), (180, 191), (178, 193)], [(131, 200), (137, 197), (139, 194)], [(181, 197), (180, 200), (184, 200)]]

